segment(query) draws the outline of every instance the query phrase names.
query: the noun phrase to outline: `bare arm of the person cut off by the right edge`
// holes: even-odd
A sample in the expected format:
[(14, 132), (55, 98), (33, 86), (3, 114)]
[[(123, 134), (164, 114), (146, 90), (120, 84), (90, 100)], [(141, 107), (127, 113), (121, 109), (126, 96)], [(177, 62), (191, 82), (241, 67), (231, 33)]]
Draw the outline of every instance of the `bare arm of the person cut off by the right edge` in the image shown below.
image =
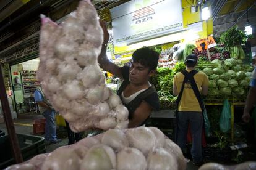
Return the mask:
[(256, 87), (250, 87), (249, 93), (244, 106), (244, 114), (242, 115), (242, 120), (245, 123), (250, 121), (250, 110), (256, 102)]

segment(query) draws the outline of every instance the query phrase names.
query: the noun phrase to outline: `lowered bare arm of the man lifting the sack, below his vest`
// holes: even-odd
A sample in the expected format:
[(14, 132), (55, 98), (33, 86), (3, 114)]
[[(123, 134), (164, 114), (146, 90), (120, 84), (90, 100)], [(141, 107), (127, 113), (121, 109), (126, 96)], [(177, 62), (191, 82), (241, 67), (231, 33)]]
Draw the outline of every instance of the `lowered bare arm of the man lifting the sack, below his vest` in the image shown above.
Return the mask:
[(140, 126), (149, 116), (153, 108), (146, 102), (140, 103), (139, 107), (134, 111), (132, 119), (129, 120), (128, 128)]

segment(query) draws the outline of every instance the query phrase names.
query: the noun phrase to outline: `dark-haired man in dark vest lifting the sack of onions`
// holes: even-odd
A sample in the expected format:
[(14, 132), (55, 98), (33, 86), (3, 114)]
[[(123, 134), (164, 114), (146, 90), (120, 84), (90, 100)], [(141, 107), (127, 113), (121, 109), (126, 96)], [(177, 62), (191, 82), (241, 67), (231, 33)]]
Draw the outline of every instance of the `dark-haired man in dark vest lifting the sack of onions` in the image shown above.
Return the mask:
[(109, 34), (106, 23), (101, 21), (100, 24), (104, 31), (104, 42), (98, 63), (103, 70), (109, 71), (123, 80), (117, 95), (129, 111), (128, 127), (143, 126), (151, 111), (160, 108), (156, 89), (148, 81), (156, 73), (159, 54), (148, 47), (142, 47), (132, 54), (130, 67), (127, 65), (119, 67), (110, 62), (106, 56)]

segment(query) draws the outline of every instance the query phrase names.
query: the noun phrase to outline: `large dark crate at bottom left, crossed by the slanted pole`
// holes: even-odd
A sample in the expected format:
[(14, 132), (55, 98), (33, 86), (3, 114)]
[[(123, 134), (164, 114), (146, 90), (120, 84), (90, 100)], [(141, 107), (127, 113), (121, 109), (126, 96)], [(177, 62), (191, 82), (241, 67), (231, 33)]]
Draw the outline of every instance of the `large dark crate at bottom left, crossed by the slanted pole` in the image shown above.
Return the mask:
[[(45, 153), (45, 139), (40, 136), (32, 136), (28, 134), (17, 134), (19, 140), (20, 151), (23, 161), (27, 161), (33, 156)], [(12, 155), (11, 142), (9, 136), (0, 137), (0, 169), (4, 169), (11, 164), (15, 164)]]

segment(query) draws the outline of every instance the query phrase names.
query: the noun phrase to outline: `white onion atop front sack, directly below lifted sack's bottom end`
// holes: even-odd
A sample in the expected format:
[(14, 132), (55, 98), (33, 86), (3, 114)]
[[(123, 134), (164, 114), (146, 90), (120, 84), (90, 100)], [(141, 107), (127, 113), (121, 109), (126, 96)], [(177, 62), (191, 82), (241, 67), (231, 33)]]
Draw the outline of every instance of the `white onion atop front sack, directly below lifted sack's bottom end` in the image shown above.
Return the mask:
[(103, 134), (101, 143), (114, 148), (114, 150), (121, 150), (128, 147), (128, 141), (123, 131), (119, 129), (109, 129)]

